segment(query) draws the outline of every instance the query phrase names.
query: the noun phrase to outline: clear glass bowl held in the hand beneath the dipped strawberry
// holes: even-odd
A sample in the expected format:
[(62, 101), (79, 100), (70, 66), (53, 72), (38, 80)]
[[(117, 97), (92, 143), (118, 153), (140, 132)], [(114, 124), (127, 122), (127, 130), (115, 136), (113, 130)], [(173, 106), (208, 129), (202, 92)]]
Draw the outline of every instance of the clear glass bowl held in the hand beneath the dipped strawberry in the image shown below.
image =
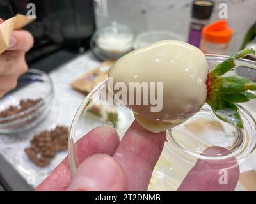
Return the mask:
[[(210, 69), (227, 59), (225, 56), (218, 55), (206, 55), (206, 57)], [(246, 59), (238, 60), (236, 68), (228, 75), (241, 75), (256, 81), (256, 62)], [(76, 141), (97, 126), (102, 124), (113, 126), (111, 122), (106, 122), (106, 119), (95, 119), (90, 116), (90, 112), (95, 106), (100, 107), (102, 112), (115, 110), (118, 113), (118, 122), (115, 124), (115, 129), (120, 138), (134, 121), (133, 113), (129, 108), (124, 105), (111, 105), (106, 99), (100, 97), (100, 91), (104, 89), (107, 83), (108, 81), (105, 80), (88, 94), (79, 106), (72, 122), (68, 143), (68, 157), (72, 173), (76, 171), (77, 166), (74, 157)], [(205, 104), (200, 112), (184, 124), (166, 131), (167, 141), (154, 168), (148, 190), (176, 190), (188, 171), (196, 163), (196, 159), (212, 160), (235, 156), (237, 161), (241, 163), (250, 156), (256, 147), (256, 100), (237, 105), (244, 122), (244, 129), (234, 128), (234, 126), (221, 121), (212, 113), (211, 108)], [(231, 153), (216, 157), (201, 155), (210, 146), (225, 147)], [(241, 171), (244, 171), (243, 166), (240, 166)]]

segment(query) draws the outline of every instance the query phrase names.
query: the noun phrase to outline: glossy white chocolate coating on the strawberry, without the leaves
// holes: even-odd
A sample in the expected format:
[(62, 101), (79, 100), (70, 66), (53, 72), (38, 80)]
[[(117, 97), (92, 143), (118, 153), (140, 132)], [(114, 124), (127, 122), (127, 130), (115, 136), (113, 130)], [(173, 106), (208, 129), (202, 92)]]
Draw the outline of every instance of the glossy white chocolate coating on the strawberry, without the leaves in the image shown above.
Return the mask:
[[(208, 65), (201, 50), (176, 40), (158, 41), (120, 58), (110, 69), (116, 82), (163, 82), (163, 108), (151, 111), (148, 105), (127, 105), (136, 120), (152, 132), (177, 126), (195, 115), (207, 96)], [(115, 92), (115, 91), (114, 91)], [(135, 93), (129, 92), (127, 96)], [(156, 96), (157, 98), (157, 96)]]

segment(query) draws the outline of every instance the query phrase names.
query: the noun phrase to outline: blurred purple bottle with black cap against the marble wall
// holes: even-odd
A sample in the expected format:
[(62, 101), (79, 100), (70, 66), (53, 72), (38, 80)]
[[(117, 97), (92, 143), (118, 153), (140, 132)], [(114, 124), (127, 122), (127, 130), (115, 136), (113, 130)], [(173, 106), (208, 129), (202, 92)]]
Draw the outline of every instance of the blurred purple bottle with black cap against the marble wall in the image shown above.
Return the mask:
[(188, 43), (200, 47), (202, 29), (208, 24), (214, 2), (210, 0), (195, 0), (192, 6), (192, 20), (190, 24)]

